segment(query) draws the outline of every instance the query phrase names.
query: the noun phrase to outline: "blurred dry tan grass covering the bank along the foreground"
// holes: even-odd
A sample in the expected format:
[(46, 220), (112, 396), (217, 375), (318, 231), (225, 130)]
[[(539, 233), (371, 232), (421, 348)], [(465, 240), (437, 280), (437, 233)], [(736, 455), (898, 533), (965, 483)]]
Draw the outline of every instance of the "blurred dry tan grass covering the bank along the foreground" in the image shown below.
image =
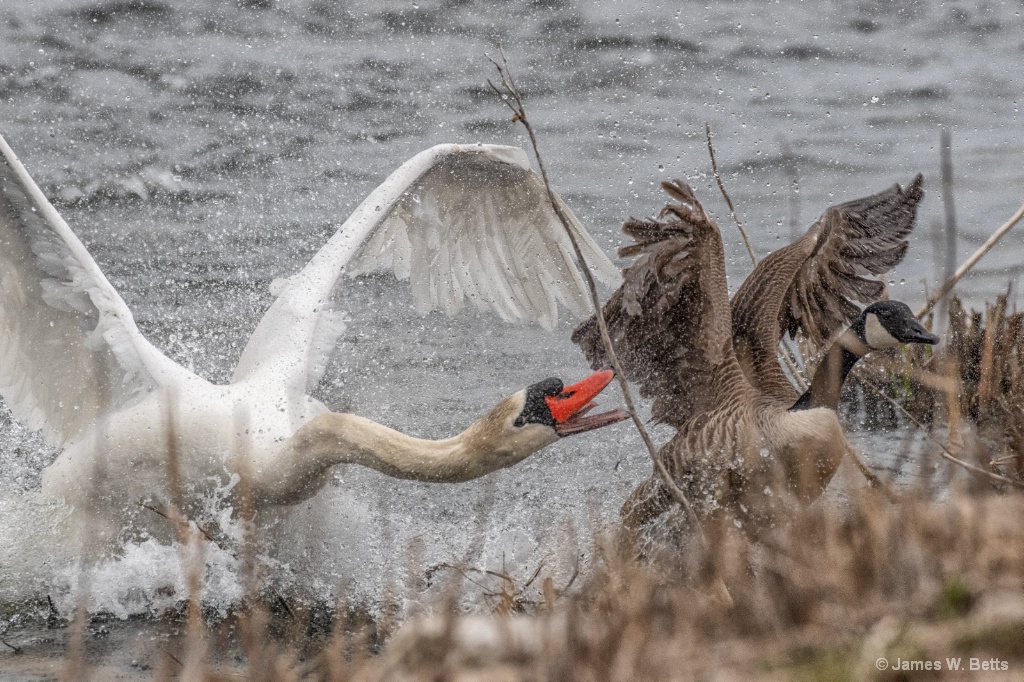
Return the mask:
[[(921, 675), (880, 671), (878, 658), (956, 656), (1006, 662), (1019, 679), (1024, 495), (946, 497), (911, 491), (892, 503), (865, 488), (757, 543), (722, 524), (708, 528), (707, 551), (662, 543), (643, 559), (609, 528), (567, 590), (543, 566), (521, 579), (453, 570), (431, 612), (400, 624), (396, 607), (371, 616), (344, 598), (327, 619), (271, 593), (216, 623), (186, 608), (181, 634), (154, 651), (153, 679), (896, 680)], [(460, 612), (470, 578), (489, 615)], [(66, 664), (63, 679), (89, 679), (81, 650)]]

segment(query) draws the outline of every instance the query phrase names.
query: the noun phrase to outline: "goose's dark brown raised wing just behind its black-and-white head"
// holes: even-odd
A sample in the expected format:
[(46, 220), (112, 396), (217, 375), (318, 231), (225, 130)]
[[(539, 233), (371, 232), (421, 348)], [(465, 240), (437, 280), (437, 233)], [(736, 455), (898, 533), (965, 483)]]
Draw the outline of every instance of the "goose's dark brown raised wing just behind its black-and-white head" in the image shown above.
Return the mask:
[(759, 389), (780, 399), (794, 394), (776, 358), (785, 332), (820, 347), (860, 314), (857, 303), (882, 296), (878, 275), (906, 253), (921, 184), (919, 174), (906, 189), (896, 184), (833, 206), (803, 237), (758, 263), (732, 299), (732, 321)]

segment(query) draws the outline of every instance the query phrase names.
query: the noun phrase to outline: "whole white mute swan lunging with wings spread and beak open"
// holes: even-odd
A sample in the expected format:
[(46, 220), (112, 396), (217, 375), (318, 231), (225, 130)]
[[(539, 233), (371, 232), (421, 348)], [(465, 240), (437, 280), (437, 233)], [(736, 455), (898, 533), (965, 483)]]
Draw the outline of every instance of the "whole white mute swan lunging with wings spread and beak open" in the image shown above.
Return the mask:
[[(2, 137), (0, 153), (0, 395), (61, 447), (43, 472), (44, 497), (118, 519), (102, 532), (119, 532), (140, 497), (168, 501), (171, 451), (186, 504), (243, 474), (262, 507), (313, 495), (341, 462), (461, 481), (625, 418), (584, 416), (610, 373), (535, 384), (437, 442), (331, 413), (307, 395), (344, 329), (333, 292), (346, 271), (392, 268), (411, 280), (421, 312), (455, 312), (469, 299), (551, 328), (559, 303), (586, 309), (568, 240), (522, 150), (442, 144), (402, 164), (301, 271), (273, 283), (276, 299), (227, 385), (142, 337)], [(614, 283), (615, 268), (574, 217), (571, 227), (597, 275)]]

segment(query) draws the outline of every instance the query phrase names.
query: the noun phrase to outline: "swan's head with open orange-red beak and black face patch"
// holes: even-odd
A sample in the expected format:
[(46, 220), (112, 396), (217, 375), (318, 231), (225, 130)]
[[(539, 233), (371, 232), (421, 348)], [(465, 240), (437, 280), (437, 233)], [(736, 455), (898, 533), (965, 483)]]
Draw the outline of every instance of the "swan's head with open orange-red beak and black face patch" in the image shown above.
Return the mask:
[(467, 433), (473, 450), (485, 460), (481, 467), (512, 466), (559, 438), (629, 417), (623, 410), (589, 414), (597, 407), (594, 398), (613, 377), (605, 370), (571, 386), (557, 378), (545, 379), (499, 402)]

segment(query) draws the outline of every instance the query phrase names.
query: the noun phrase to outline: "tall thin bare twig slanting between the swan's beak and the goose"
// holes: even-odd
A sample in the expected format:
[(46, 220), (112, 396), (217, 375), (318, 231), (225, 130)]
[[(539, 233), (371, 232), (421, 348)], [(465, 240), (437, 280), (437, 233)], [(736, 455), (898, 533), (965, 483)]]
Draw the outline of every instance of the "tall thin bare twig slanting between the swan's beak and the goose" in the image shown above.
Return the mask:
[(487, 56), (487, 59), (490, 63), (495, 65), (495, 68), (498, 70), (498, 75), (501, 77), (502, 87), (499, 88), (489, 79), (487, 80), (487, 85), (489, 85), (490, 89), (493, 89), (495, 93), (501, 97), (502, 101), (512, 110), (512, 120), (521, 123), (526, 129), (526, 134), (529, 136), (529, 142), (534, 147), (534, 155), (537, 157), (537, 165), (541, 169), (541, 177), (544, 179), (544, 186), (548, 191), (548, 201), (551, 202), (551, 208), (554, 210), (555, 215), (558, 216), (558, 220), (562, 223), (562, 227), (565, 228), (565, 233), (568, 236), (569, 243), (572, 245), (572, 250), (575, 252), (577, 260), (580, 261), (580, 269), (583, 270), (583, 274), (587, 280), (587, 287), (590, 289), (591, 302), (594, 304), (594, 314), (597, 318), (597, 328), (601, 333), (601, 341), (604, 343), (605, 350), (608, 352), (608, 357), (611, 359), (611, 366), (615, 371), (615, 378), (618, 380), (618, 386), (623, 391), (623, 399), (626, 401), (626, 411), (633, 419), (633, 424), (636, 426), (637, 431), (640, 432), (640, 437), (643, 439), (644, 444), (647, 446), (647, 451), (650, 453), (650, 458), (654, 462), (654, 469), (662, 478), (662, 482), (665, 483), (666, 487), (672, 493), (672, 496), (677, 502), (679, 502), (680, 505), (683, 506), (690, 518), (693, 519), (693, 524), (697, 529), (697, 537), (700, 540), (700, 544), (705, 549), (707, 549), (709, 547), (708, 538), (705, 536), (703, 528), (700, 525), (696, 512), (693, 511), (690, 501), (686, 499), (686, 495), (679, 488), (678, 485), (676, 485), (676, 481), (672, 479), (668, 469), (665, 468), (665, 464), (657, 457), (657, 447), (654, 445), (654, 441), (651, 440), (650, 434), (647, 433), (647, 429), (644, 427), (643, 422), (637, 414), (636, 407), (633, 402), (633, 394), (630, 392), (629, 384), (626, 381), (626, 375), (623, 373), (623, 369), (618, 365), (618, 357), (615, 355), (614, 348), (612, 348), (611, 345), (611, 337), (608, 334), (608, 325), (604, 319), (604, 311), (601, 309), (601, 300), (597, 295), (597, 286), (594, 284), (594, 275), (590, 272), (590, 267), (587, 265), (583, 251), (580, 249), (580, 244), (577, 241), (575, 233), (573, 233), (572, 228), (569, 226), (569, 220), (562, 211), (562, 207), (555, 198), (554, 190), (551, 188), (551, 183), (548, 181), (548, 172), (544, 167), (544, 160), (541, 158), (541, 151), (537, 143), (537, 136), (534, 134), (534, 128), (530, 126), (529, 120), (526, 118), (526, 109), (523, 104), (522, 96), (519, 93), (519, 88), (516, 86), (515, 81), (512, 79), (512, 75), (509, 73), (508, 60), (505, 58), (505, 52), (504, 50), (501, 51), (500, 63), (490, 56)]

